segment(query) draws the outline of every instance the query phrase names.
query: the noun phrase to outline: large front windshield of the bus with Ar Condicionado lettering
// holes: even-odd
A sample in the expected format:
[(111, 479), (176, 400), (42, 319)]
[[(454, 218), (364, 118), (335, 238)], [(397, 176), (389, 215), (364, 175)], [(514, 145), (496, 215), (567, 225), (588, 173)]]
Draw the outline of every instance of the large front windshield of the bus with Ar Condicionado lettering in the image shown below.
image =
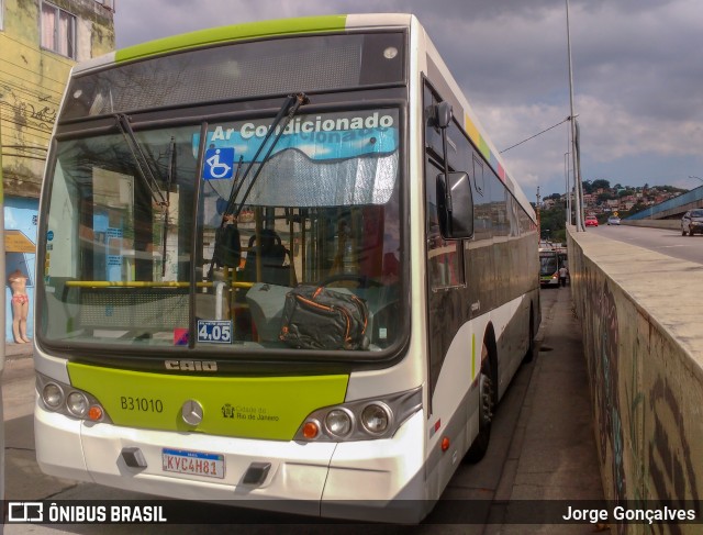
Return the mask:
[(270, 124), (115, 125), (58, 142), (42, 339), (291, 349), (286, 298), (310, 285), (362, 301), (365, 352), (398, 343), (398, 110), (301, 113), (265, 141)]

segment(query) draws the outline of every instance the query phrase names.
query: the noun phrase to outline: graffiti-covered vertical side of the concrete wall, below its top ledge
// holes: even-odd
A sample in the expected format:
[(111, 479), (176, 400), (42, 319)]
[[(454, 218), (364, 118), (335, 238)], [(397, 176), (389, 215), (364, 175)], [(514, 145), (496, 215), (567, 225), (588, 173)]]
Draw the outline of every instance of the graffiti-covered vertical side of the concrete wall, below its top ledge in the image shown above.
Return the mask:
[[(677, 366), (676, 348), (646, 313), (628, 308), (617, 283), (598, 266), (583, 264), (578, 292), (584, 303), (583, 344), (606, 498), (617, 503), (659, 500), (695, 509), (699, 517), (700, 403), (682, 390), (689, 386), (688, 368)], [(624, 534), (632, 526), (612, 528)], [(668, 524), (647, 533), (684, 532)]]

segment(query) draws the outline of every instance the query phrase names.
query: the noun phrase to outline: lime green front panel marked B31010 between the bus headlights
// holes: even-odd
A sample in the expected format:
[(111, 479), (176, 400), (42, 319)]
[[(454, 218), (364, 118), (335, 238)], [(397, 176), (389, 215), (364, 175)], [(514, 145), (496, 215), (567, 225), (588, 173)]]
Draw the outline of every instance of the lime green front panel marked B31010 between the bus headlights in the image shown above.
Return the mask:
[[(68, 363), (71, 384), (94, 395), (115, 425), (290, 441), (313, 410), (344, 401), (348, 376), (203, 377), (127, 371)], [(203, 409), (183, 422), (189, 400)]]

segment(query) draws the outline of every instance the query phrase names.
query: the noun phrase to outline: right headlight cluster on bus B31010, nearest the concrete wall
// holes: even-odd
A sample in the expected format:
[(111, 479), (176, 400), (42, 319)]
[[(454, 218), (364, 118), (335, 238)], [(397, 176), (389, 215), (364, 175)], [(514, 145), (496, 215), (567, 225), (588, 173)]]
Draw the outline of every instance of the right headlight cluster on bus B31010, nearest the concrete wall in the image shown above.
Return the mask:
[[(422, 410), (422, 387), (383, 398), (348, 401), (311, 412), (293, 439), (300, 442), (352, 442), (390, 438), (414, 413)], [(319, 426), (319, 422), (323, 422)], [(314, 433), (310, 432), (314, 428)]]

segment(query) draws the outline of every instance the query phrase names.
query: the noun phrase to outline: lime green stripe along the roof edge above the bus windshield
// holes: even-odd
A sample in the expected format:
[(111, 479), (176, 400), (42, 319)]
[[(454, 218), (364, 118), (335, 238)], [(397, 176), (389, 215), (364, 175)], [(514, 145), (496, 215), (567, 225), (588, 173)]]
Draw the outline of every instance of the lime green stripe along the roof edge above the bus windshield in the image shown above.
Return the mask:
[(149, 41), (148, 43), (129, 46), (121, 51), (116, 51), (115, 62), (130, 62), (132, 59), (154, 56), (167, 52), (182, 51), (198, 46), (254, 37), (271, 37), (276, 35), (326, 31), (342, 32), (346, 27), (346, 20), (347, 15), (302, 16), (298, 19), (281, 19), (199, 30), (197, 32), (189, 32), (181, 35)]

